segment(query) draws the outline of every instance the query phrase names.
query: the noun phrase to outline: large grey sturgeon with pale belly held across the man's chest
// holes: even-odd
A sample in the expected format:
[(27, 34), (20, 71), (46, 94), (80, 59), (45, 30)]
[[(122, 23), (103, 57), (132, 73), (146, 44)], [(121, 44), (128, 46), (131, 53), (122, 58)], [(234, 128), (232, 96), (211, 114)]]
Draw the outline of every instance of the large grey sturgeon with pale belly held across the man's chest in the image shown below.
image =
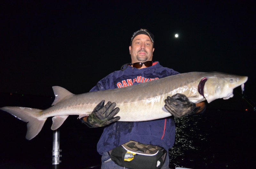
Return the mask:
[(59, 128), (68, 115), (88, 116), (101, 100), (115, 102), (120, 111), (119, 121), (147, 121), (161, 119), (171, 114), (164, 109), (164, 99), (176, 93), (184, 94), (193, 103), (233, 97), (233, 89), (242, 86), (246, 76), (218, 72), (190, 72), (168, 76), (154, 81), (113, 90), (89, 92), (79, 95), (65, 88), (53, 86), (55, 100), (52, 107), (39, 110), (26, 107), (2, 107), (13, 116), (28, 122), (26, 138), (34, 138), (48, 117), (52, 118), (52, 130)]

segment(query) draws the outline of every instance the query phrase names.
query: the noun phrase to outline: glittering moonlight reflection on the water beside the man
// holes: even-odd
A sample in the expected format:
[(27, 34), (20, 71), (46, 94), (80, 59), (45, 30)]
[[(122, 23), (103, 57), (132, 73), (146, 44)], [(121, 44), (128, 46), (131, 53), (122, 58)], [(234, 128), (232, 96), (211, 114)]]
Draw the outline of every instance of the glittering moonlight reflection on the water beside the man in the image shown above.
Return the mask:
[(188, 161), (193, 162), (193, 158), (188, 158), (188, 154), (193, 154), (202, 151), (201, 144), (206, 142), (207, 134), (201, 131), (200, 123), (205, 122), (205, 117), (200, 115), (185, 116), (175, 118), (176, 138), (172, 149), (169, 149), (170, 167), (175, 168), (188, 164)]

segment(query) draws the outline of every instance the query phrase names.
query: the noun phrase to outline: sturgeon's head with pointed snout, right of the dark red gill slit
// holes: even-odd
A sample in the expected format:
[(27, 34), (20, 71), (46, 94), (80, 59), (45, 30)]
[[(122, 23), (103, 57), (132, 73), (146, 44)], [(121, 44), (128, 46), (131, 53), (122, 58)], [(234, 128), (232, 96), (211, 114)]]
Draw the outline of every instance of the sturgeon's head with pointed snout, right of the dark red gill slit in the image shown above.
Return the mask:
[(233, 89), (241, 86), (243, 91), (244, 83), (248, 79), (247, 76), (238, 76), (219, 72), (210, 72), (205, 75), (206, 78), (202, 80), (205, 82), (203, 90), (200, 92), (200, 85), (198, 90), (208, 103), (218, 98), (229, 99), (230, 97), (233, 97)]

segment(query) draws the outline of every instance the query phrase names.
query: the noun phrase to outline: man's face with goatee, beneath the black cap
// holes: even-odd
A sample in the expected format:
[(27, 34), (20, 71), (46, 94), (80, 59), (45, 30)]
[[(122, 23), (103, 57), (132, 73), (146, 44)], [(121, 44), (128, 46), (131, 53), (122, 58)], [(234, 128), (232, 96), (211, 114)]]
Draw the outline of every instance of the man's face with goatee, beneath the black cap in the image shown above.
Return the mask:
[(132, 63), (152, 61), (153, 42), (148, 35), (140, 34), (132, 40), (132, 46), (129, 46)]

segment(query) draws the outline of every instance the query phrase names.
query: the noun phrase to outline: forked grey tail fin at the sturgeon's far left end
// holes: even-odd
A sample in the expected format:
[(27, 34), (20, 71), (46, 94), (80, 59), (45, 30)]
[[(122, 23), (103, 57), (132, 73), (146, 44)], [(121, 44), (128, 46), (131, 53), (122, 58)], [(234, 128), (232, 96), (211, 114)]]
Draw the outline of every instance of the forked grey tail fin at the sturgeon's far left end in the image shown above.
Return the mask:
[(16, 118), (28, 122), (26, 139), (34, 138), (44, 126), (46, 119), (39, 119), (39, 115), (43, 110), (32, 109), (27, 107), (2, 107), (0, 110), (7, 111)]

